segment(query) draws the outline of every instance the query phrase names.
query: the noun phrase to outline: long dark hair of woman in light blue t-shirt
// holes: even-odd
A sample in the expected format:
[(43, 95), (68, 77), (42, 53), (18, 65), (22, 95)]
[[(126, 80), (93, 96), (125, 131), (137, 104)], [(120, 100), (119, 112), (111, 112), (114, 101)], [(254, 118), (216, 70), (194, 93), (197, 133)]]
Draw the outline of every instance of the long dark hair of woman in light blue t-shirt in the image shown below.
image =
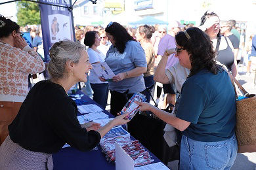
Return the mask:
[(116, 48), (119, 51), (119, 53), (123, 54), (125, 51), (125, 44), (128, 41), (136, 41), (129, 35), (129, 33), (126, 31), (125, 27), (120, 25), (117, 22), (110, 22), (108, 26), (105, 29), (106, 33), (109, 33), (114, 37), (114, 40), (116, 41)]

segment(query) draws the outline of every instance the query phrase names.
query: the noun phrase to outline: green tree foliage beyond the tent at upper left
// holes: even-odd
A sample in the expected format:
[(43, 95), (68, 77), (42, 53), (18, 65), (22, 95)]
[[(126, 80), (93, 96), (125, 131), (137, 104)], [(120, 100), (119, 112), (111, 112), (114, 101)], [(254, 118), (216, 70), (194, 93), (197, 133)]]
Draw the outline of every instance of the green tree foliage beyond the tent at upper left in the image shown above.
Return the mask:
[(19, 1), (17, 3), (18, 24), (24, 26), (27, 24), (40, 24), (39, 4), (28, 1)]

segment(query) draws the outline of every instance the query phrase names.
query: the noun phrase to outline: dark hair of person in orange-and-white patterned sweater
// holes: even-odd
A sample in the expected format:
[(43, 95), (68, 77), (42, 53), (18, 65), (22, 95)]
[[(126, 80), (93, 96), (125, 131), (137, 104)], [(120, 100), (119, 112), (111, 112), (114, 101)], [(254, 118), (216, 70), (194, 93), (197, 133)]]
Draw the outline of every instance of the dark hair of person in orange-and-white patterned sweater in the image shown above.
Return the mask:
[(8, 37), (12, 31), (18, 31), (19, 29), (20, 25), (16, 24), (16, 22), (0, 15), (0, 38)]

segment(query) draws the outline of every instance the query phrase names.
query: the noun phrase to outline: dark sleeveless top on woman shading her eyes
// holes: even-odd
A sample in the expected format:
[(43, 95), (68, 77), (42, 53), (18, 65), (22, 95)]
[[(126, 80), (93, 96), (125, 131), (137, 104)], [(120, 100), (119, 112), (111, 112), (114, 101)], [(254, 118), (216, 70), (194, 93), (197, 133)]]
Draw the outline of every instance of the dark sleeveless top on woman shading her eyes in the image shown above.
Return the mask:
[(232, 64), (234, 63), (234, 53), (232, 52), (232, 48), (229, 46), (226, 37), (224, 37), (224, 39), (228, 46), (226, 49), (219, 50), (216, 60), (224, 64), (228, 68), (228, 71), (231, 71)]

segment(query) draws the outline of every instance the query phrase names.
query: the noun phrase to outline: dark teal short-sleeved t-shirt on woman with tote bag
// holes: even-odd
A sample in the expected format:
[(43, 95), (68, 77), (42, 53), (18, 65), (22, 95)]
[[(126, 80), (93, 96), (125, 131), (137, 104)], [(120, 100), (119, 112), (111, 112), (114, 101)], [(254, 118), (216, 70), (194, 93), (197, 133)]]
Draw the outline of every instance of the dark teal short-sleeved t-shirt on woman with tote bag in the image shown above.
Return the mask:
[(236, 95), (226, 71), (203, 69), (183, 84), (177, 118), (191, 122), (182, 133), (195, 141), (224, 141), (234, 135)]

